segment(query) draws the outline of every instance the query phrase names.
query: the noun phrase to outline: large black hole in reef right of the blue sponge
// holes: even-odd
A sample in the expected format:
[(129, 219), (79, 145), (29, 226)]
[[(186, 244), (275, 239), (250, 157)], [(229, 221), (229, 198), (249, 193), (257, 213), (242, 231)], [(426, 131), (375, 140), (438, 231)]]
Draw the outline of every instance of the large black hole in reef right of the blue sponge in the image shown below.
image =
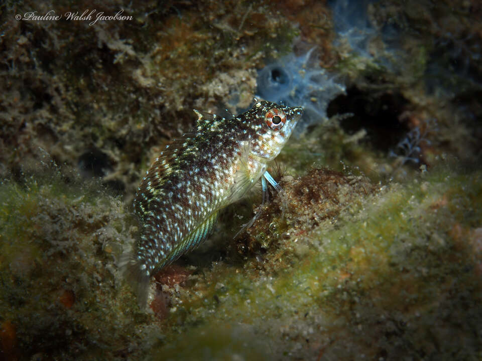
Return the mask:
[(367, 131), (368, 140), (374, 149), (389, 152), (409, 132), (407, 124), (400, 121), (400, 115), (409, 104), (400, 93), (387, 91), (376, 93), (362, 91), (357, 87), (346, 90), (330, 102), (328, 117), (336, 114), (353, 113), (343, 119), (341, 127), (347, 134), (354, 134), (360, 129)]

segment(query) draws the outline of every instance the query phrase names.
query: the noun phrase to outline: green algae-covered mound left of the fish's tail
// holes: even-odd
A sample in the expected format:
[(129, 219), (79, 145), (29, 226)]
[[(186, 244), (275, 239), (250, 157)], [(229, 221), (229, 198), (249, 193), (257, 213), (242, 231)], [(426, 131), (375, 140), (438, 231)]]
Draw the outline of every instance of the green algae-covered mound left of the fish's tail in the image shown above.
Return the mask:
[(77, 179), (50, 161), (0, 184), (0, 323), (14, 325), (21, 359), (96, 359), (106, 348), (115, 358), (140, 340), (117, 317), (132, 303), (112, 257), (132, 242), (131, 222), (118, 199)]

